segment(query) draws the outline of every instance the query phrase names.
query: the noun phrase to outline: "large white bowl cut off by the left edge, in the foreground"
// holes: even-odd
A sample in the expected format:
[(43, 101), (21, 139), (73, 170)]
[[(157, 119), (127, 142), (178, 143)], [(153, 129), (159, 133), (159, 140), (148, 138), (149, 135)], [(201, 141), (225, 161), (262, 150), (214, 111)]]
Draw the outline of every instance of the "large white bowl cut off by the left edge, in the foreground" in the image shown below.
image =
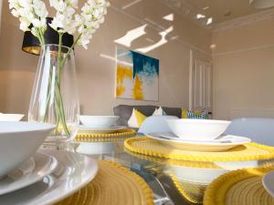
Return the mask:
[(43, 123), (0, 122), (0, 176), (34, 155), (54, 128)]

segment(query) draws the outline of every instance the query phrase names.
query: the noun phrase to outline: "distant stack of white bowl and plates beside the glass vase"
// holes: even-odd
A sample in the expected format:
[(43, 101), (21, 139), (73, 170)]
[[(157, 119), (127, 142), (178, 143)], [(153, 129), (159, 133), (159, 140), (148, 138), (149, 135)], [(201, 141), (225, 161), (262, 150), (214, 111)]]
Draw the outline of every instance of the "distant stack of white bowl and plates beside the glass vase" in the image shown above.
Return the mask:
[(125, 127), (117, 126), (118, 116), (80, 116), (79, 134), (109, 134)]

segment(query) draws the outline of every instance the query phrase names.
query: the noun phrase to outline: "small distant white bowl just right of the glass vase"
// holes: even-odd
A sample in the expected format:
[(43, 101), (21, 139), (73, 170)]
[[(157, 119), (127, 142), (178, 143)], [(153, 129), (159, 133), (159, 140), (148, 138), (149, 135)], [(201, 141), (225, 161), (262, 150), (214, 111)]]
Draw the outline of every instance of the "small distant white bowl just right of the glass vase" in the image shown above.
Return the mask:
[(90, 128), (110, 128), (117, 125), (118, 118), (118, 116), (80, 116), (80, 121)]

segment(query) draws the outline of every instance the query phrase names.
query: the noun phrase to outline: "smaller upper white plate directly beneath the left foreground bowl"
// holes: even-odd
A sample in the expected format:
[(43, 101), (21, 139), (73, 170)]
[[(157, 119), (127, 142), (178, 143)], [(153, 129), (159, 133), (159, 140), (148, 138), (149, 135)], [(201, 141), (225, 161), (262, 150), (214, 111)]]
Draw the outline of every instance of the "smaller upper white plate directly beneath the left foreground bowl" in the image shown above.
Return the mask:
[(18, 179), (5, 177), (0, 180), (0, 195), (36, 183), (50, 174), (58, 165), (57, 159), (38, 152), (33, 156), (33, 159), (35, 161), (35, 168), (31, 172)]

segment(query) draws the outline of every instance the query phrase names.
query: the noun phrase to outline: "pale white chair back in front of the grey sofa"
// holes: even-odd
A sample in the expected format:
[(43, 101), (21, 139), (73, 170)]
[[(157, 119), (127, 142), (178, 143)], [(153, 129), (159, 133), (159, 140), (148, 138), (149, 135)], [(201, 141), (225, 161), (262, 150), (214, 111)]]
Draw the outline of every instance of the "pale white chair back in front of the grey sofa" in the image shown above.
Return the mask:
[(142, 122), (139, 133), (148, 134), (153, 132), (169, 132), (171, 131), (166, 123), (166, 119), (174, 119), (175, 116), (151, 116)]

